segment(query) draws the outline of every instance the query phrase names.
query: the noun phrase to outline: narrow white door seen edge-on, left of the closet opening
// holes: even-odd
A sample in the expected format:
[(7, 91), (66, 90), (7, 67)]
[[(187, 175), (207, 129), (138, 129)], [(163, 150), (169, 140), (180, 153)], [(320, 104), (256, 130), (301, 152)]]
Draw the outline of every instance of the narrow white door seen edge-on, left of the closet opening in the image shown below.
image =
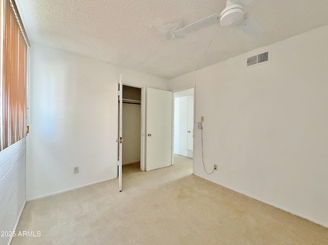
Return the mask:
[(123, 109), (123, 79), (122, 74), (119, 75), (119, 112), (118, 112), (118, 121), (119, 121), (119, 129), (118, 129), (118, 187), (119, 191), (122, 191), (122, 109)]

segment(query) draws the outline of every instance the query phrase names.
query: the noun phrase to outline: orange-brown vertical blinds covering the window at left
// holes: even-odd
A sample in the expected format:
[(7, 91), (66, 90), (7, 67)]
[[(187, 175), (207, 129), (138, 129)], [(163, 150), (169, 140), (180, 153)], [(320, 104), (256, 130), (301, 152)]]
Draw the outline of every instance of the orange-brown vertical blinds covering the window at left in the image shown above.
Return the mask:
[(0, 151), (26, 136), (27, 40), (11, 0), (2, 0)]

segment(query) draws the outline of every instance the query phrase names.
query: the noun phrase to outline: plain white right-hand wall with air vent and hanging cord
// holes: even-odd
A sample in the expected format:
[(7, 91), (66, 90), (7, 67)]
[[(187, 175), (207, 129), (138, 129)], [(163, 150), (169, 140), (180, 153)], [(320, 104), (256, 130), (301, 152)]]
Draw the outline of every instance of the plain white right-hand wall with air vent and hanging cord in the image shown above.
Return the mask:
[[(197, 71), (204, 162), (218, 165), (204, 173), (195, 128), (197, 176), (328, 227), (326, 40), (328, 26)], [(245, 69), (270, 49), (271, 63)]]

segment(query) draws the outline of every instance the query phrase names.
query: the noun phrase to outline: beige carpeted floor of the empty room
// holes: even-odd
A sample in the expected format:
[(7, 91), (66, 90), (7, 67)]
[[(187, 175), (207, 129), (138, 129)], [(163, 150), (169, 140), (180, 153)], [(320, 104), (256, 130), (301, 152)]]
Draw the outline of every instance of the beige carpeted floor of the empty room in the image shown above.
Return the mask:
[(29, 201), (12, 244), (328, 244), (328, 229), (192, 175), (192, 160)]

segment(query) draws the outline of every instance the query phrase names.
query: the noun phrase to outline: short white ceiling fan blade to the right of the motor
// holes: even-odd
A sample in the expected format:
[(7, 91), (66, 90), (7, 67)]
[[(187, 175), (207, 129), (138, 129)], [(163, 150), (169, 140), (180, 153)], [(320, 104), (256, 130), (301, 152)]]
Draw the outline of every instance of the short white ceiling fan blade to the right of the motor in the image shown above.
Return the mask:
[(244, 14), (243, 21), (237, 26), (235, 26), (235, 28), (241, 30), (251, 39), (258, 39), (265, 32), (264, 29), (260, 26), (260, 24), (258, 24), (258, 22), (255, 21), (255, 19), (249, 13)]

